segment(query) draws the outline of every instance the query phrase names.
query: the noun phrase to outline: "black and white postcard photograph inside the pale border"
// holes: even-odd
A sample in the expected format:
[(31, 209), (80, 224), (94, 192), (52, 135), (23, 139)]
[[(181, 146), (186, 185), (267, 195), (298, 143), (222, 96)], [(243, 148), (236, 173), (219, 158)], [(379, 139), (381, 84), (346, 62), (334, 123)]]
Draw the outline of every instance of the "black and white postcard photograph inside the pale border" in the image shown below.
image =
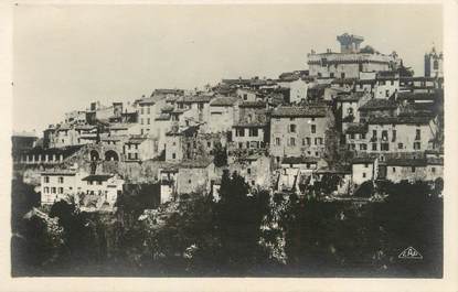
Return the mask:
[(11, 11), (12, 279), (444, 279), (441, 2)]

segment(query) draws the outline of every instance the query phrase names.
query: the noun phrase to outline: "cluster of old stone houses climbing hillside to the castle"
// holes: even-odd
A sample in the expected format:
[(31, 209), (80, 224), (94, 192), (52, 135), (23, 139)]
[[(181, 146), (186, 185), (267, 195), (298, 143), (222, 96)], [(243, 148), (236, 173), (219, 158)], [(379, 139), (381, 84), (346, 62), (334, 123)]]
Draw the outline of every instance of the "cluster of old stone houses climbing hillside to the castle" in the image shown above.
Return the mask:
[[(303, 193), (337, 175), (342, 195), (365, 181), (441, 177), (443, 55), (433, 48), (426, 76), (414, 77), (395, 52), (360, 48), (358, 35), (337, 40), (340, 52), (312, 51), (308, 69), (275, 79), (222, 79), (202, 90), (156, 89), (132, 102), (93, 102), (13, 152), (14, 165), (45, 165), (42, 204), (73, 195), (86, 207), (114, 206), (123, 183), (132, 180), (116, 171), (126, 165), (155, 165), (148, 175), (160, 185), (162, 203), (192, 192), (216, 197), (224, 170), (274, 192)], [(75, 153), (115, 171), (56, 170)]]

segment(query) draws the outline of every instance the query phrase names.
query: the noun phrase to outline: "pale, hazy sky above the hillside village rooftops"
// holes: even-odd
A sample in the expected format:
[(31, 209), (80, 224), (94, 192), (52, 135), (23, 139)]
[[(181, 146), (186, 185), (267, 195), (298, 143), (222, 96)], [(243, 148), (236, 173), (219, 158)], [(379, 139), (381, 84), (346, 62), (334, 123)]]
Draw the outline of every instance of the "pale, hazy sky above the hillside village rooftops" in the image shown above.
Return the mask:
[(423, 75), (425, 52), (441, 50), (441, 25), (430, 4), (19, 6), (13, 129), (42, 131), (93, 100), (306, 69), (311, 48), (339, 51), (344, 32), (396, 51)]

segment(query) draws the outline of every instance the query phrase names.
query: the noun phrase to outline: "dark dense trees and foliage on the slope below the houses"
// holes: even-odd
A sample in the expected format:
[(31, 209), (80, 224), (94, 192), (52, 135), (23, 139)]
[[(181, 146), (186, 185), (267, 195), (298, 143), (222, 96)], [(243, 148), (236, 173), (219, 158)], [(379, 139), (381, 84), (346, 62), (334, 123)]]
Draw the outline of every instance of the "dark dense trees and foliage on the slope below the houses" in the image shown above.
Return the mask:
[[(13, 274), (440, 277), (443, 181), (372, 187), (386, 199), (323, 202), (252, 192), (225, 172), (219, 202), (189, 194), (143, 210), (124, 196), (114, 215), (57, 202), (20, 220)], [(423, 260), (397, 258), (411, 246)]]

